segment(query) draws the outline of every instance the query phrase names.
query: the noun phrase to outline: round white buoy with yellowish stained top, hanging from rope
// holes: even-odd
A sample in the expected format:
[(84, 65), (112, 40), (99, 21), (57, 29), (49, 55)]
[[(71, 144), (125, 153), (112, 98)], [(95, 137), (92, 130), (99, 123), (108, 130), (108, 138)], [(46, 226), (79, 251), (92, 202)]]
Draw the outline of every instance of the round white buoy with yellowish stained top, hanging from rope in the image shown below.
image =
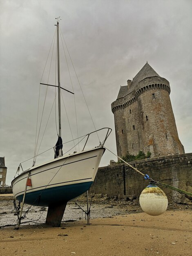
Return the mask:
[(168, 206), (167, 196), (158, 186), (150, 184), (141, 192), (139, 203), (142, 210), (152, 216), (164, 213)]

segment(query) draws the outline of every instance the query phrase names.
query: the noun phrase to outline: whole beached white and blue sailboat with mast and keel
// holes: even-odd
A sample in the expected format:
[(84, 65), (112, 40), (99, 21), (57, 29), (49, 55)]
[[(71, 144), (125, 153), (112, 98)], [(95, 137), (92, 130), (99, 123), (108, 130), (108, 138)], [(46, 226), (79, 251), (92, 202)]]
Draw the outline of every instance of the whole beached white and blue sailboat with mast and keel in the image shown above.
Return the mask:
[(110, 128), (102, 128), (107, 129), (103, 142), (100, 142), (94, 148), (85, 150), (89, 136), (97, 131), (90, 132), (87, 134), (82, 151), (63, 155), (60, 107), (59, 20), (57, 20), (56, 26), (58, 85), (51, 85), (58, 88), (59, 134), (55, 157), (43, 164), (33, 164), (31, 168), (23, 171), (11, 182), (13, 195), (19, 202), (22, 202), (22, 205), (25, 203), (33, 206), (48, 207), (46, 223), (52, 226), (60, 226), (67, 202), (83, 194), (94, 182), (101, 157), (105, 152), (104, 143), (111, 132)]

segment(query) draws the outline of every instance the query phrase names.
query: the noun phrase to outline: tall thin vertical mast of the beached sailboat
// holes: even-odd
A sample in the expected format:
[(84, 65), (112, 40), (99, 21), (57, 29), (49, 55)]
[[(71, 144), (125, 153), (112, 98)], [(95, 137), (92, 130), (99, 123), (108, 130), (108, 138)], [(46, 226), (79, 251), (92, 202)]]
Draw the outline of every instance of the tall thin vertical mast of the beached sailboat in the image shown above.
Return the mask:
[[(59, 113), (59, 137), (61, 137), (61, 109), (60, 109), (60, 60), (59, 60), (59, 22), (57, 20), (57, 65), (58, 65), (58, 113)], [(59, 149), (59, 155), (62, 156), (62, 150)]]

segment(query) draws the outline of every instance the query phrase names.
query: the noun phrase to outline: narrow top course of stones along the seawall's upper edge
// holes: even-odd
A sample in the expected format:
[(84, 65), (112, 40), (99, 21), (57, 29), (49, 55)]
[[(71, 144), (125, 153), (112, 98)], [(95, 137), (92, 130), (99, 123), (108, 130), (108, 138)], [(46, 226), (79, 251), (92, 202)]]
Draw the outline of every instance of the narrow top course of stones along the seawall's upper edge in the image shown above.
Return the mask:
[[(133, 162), (129, 162), (129, 164), (133, 165), (133, 164), (140, 164), (140, 163), (144, 163), (144, 162), (152, 162), (152, 161), (156, 161), (156, 160), (163, 160), (163, 159), (173, 159), (173, 158), (180, 158), (180, 157), (192, 157), (192, 153), (185, 153), (185, 154), (177, 154), (177, 155), (162, 155), (159, 157), (150, 157), (150, 158), (146, 158), (146, 159), (142, 159), (142, 160), (138, 160), (138, 161), (133, 161)], [(122, 164), (115, 164), (115, 165), (108, 165), (108, 166), (102, 166), (99, 167), (99, 169), (101, 168), (106, 168), (106, 167), (111, 167), (111, 166), (122, 166), (124, 163)]]

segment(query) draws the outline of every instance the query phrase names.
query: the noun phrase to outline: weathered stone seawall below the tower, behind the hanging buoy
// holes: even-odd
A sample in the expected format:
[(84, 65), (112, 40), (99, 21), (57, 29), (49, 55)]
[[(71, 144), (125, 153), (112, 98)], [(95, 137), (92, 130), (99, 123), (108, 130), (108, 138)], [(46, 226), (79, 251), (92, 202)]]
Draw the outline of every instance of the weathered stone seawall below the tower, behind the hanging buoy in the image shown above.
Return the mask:
[[(169, 184), (192, 193), (192, 153), (154, 157), (129, 164), (136, 167), (153, 180)], [(149, 184), (143, 175), (126, 164), (115, 164), (98, 169), (94, 192), (107, 194), (108, 197), (138, 199), (143, 189)], [(179, 192), (161, 187), (169, 202), (187, 204), (191, 198)]]

